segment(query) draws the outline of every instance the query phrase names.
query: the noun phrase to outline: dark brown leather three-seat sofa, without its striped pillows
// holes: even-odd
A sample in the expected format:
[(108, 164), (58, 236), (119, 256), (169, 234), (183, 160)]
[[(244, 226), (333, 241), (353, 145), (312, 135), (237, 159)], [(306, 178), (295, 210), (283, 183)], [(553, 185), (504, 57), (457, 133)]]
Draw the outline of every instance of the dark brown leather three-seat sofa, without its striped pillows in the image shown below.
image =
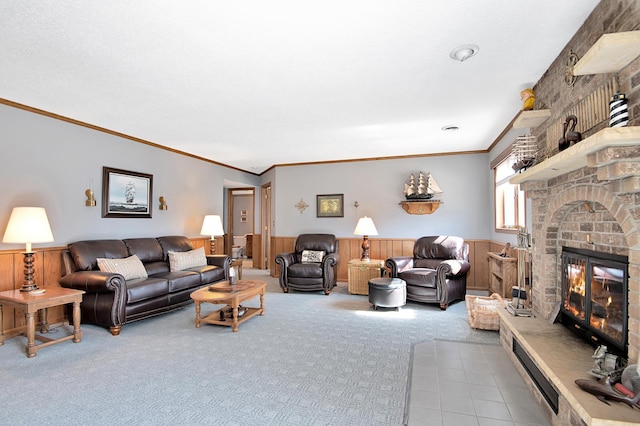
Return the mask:
[[(82, 322), (108, 327), (117, 336), (124, 324), (185, 306), (192, 302), (189, 295), (194, 290), (228, 279), (227, 255), (207, 255), (205, 266), (171, 271), (168, 252), (192, 249), (183, 236), (71, 243), (62, 254), (60, 285), (86, 292), (80, 305)], [(125, 259), (134, 254), (147, 278), (125, 280), (98, 268), (97, 258)]]

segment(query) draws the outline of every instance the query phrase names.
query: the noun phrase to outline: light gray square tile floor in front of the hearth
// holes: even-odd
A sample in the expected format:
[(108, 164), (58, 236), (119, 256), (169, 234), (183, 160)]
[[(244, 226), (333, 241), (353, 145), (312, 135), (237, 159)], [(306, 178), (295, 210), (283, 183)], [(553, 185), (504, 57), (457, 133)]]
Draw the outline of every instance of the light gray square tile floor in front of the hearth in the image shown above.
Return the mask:
[(408, 387), (409, 426), (550, 424), (499, 345), (415, 344)]

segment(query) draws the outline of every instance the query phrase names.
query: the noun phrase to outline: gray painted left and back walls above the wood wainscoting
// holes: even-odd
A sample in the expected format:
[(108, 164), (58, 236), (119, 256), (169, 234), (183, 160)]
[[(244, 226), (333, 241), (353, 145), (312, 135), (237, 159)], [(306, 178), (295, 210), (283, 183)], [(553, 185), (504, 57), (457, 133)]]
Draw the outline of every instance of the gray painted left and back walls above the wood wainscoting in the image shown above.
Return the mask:
[[(256, 188), (253, 219), (260, 229), (260, 185), (267, 182), (273, 188), (274, 236), (332, 232), (352, 237), (358, 218), (367, 215), (380, 238), (492, 237), (489, 154), (285, 166), (258, 177), (5, 105), (0, 105), (0, 147), (0, 231), (13, 207), (43, 206), (55, 242), (36, 248), (91, 238), (198, 236), (205, 214), (225, 214), (225, 187)], [(101, 217), (103, 166), (153, 175), (151, 219)], [(444, 191), (444, 203), (431, 215), (409, 215), (399, 205), (405, 179), (417, 171), (431, 172)], [(90, 180), (98, 201), (94, 208), (84, 205)], [(316, 195), (334, 193), (344, 194), (344, 217), (317, 218)], [(169, 210), (158, 209), (160, 195)], [(309, 204), (303, 213), (294, 207), (300, 199)], [(0, 244), (1, 249), (19, 247)]]

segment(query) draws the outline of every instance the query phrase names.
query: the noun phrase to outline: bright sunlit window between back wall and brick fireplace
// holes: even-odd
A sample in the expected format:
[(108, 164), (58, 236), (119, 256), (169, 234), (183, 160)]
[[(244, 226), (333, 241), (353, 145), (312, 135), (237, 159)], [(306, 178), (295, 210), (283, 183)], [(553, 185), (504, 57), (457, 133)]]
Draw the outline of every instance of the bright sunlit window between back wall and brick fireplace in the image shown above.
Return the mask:
[(493, 166), (496, 231), (517, 231), (525, 228), (525, 195), (520, 185), (509, 183), (515, 176), (515, 155), (508, 153)]

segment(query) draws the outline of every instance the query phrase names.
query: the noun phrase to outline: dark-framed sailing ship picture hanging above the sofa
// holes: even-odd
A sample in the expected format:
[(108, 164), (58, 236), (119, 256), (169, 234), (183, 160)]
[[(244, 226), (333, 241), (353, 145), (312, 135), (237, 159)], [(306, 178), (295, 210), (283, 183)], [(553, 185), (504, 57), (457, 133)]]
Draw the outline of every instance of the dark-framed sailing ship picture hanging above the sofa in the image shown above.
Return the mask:
[(151, 217), (153, 175), (102, 168), (102, 217)]

